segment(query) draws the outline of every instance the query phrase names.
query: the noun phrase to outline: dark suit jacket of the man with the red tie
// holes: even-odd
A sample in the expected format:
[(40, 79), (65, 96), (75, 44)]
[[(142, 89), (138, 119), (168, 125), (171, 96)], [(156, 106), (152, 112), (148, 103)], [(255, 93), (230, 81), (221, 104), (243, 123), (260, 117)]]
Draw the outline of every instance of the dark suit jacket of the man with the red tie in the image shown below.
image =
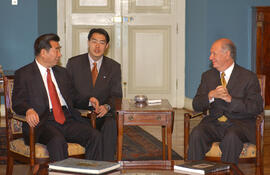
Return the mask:
[[(70, 77), (65, 68), (54, 66), (52, 68), (59, 90), (67, 103), (67, 108), (75, 120), (87, 122), (80, 113), (73, 108), (73, 102), (88, 104), (88, 98), (82, 98), (72, 87)], [(49, 116), (49, 100), (44, 82), (36, 62), (32, 62), (15, 72), (14, 89), (12, 95), (12, 108), (20, 115), (33, 108), (39, 115), (40, 123), (35, 127), (35, 139), (39, 138), (39, 127), (44, 124)], [(23, 133), (26, 143), (29, 139), (29, 125), (23, 124)]]

